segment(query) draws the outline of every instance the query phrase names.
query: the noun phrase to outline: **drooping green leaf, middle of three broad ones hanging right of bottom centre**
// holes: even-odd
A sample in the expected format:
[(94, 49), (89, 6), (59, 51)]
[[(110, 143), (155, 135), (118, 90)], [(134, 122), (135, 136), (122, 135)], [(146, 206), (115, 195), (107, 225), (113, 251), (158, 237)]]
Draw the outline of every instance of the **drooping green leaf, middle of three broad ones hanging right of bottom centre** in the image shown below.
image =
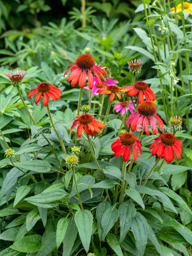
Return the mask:
[(119, 223), (120, 223), (120, 240), (119, 243), (121, 243), (125, 236), (127, 235), (127, 232), (129, 231), (129, 228), (131, 227), (131, 223), (134, 219), (136, 213), (136, 209), (134, 206), (134, 203), (128, 201), (120, 204), (119, 206)]

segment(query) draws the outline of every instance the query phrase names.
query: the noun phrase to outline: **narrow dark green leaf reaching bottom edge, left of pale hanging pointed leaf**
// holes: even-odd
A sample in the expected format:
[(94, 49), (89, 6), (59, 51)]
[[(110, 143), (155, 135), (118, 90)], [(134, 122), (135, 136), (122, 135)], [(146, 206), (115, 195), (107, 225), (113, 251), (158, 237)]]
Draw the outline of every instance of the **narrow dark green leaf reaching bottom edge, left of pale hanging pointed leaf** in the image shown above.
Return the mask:
[(70, 256), (77, 233), (78, 228), (75, 225), (74, 216), (72, 216), (68, 219), (68, 226), (63, 240), (63, 256)]

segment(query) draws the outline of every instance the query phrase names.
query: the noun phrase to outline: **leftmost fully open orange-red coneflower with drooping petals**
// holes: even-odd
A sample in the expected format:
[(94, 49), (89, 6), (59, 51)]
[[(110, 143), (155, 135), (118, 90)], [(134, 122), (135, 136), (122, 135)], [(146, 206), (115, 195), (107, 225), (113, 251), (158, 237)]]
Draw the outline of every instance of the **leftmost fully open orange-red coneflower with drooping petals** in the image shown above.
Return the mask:
[(34, 95), (36, 92), (37, 95), (35, 97), (35, 104), (37, 104), (40, 101), (41, 96), (43, 95), (43, 104), (45, 107), (49, 103), (49, 97), (53, 100), (60, 100), (59, 94), (62, 95), (61, 90), (55, 87), (54, 85), (48, 83), (41, 83), (37, 85), (37, 88), (34, 88), (30, 92), (28, 92), (27, 99)]

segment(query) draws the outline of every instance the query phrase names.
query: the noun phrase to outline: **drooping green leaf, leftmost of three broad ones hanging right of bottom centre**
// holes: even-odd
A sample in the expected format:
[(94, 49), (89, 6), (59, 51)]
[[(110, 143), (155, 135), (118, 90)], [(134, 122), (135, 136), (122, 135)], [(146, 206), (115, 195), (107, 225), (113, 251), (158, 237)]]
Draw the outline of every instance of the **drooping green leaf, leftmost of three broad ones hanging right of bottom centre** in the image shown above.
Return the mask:
[(119, 218), (119, 211), (115, 208), (115, 206), (111, 206), (107, 208), (101, 218), (101, 241), (105, 241), (105, 237), (110, 231), (110, 229), (113, 227), (115, 222)]

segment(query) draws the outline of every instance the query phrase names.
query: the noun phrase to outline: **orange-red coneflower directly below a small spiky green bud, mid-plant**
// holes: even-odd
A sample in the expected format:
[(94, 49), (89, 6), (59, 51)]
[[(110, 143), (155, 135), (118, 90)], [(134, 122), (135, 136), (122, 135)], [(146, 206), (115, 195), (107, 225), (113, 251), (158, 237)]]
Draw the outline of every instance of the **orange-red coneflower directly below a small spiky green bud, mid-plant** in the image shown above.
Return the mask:
[(93, 132), (100, 133), (100, 128), (106, 128), (104, 124), (99, 121), (96, 121), (95, 118), (89, 114), (76, 116), (76, 120), (73, 122), (71, 126), (70, 133), (72, 132), (73, 128), (77, 125), (77, 138), (81, 137), (83, 128), (88, 135), (93, 136)]

